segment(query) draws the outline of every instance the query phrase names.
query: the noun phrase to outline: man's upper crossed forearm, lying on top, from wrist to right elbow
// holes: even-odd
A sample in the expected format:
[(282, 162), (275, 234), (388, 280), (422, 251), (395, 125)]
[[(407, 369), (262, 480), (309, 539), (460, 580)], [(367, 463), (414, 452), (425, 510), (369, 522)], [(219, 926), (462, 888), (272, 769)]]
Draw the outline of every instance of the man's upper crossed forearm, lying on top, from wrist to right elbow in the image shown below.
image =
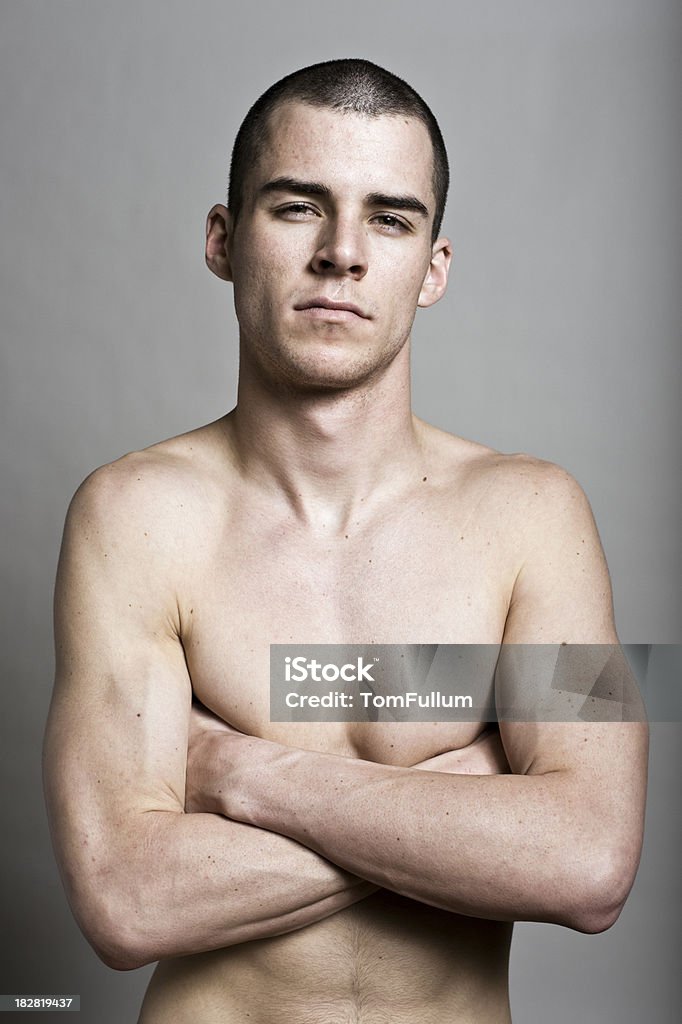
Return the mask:
[(423, 902), (599, 931), (625, 898), (609, 822), (567, 772), (443, 775), (286, 748), (250, 768), (231, 813)]

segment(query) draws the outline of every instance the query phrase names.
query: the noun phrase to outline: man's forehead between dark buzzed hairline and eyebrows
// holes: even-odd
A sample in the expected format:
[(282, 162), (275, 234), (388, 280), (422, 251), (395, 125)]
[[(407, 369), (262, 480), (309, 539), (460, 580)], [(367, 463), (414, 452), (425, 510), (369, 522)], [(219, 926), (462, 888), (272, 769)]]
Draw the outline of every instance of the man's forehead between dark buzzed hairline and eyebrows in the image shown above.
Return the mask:
[(252, 183), (257, 189), (292, 177), (319, 181), (338, 195), (409, 193), (433, 210), (432, 172), (431, 139), (417, 118), (287, 102), (270, 115)]

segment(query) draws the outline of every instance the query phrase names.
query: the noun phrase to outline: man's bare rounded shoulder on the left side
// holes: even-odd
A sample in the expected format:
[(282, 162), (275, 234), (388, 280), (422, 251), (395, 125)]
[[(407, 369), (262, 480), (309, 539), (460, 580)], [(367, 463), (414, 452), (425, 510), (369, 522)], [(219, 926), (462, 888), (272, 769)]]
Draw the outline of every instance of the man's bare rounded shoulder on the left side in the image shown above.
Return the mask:
[(201, 550), (221, 507), (217, 481), (224, 493), (227, 475), (218, 465), (221, 456), (216, 426), (209, 425), (91, 473), (67, 515), (57, 606), (75, 593), (88, 592), (100, 603), (115, 594), (123, 601), (125, 593), (134, 595), (131, 606), (150, 600), (170, 614), (191, 564), (191, 546)]

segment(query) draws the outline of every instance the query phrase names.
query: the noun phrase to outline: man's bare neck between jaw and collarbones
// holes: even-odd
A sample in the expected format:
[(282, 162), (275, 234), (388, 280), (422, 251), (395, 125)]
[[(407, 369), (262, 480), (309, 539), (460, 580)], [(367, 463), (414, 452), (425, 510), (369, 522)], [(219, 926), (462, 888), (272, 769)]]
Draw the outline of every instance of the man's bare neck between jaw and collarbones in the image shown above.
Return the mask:
[(342, 531), (422, 471), (409, 367), (406, 345), (372, 382), (293, 391), (243, 365), (226, 419), (242, 472), (284, 496), (301, 521)]

